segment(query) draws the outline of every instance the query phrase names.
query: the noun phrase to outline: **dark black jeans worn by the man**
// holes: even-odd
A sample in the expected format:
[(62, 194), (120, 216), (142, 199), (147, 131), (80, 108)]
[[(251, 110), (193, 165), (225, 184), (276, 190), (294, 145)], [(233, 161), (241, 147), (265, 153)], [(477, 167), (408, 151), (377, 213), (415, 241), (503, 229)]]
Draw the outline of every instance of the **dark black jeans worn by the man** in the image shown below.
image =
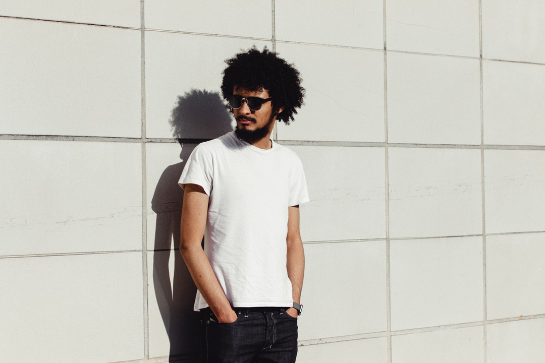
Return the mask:
[(238, 307), (233, 323), (218, 323), (203, 310), (203, 353), (207, 363), (294, 363), (297, 318), (282, 307)]

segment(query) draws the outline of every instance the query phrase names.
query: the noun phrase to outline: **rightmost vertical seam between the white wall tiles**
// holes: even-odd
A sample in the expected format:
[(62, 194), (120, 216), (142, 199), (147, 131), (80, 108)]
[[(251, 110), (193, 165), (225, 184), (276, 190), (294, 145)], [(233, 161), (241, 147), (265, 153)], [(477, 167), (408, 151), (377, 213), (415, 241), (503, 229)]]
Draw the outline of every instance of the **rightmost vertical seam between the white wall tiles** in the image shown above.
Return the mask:
[(481, 106), (481, 213), (482, 213), (482, 297), (483, 297), (483, 363), (487, 362), (487, 296), (486, 296), (486, 216), (485, 216), (485, 113), (482, 60), (482, 0), (479, 0), (479, 95)]

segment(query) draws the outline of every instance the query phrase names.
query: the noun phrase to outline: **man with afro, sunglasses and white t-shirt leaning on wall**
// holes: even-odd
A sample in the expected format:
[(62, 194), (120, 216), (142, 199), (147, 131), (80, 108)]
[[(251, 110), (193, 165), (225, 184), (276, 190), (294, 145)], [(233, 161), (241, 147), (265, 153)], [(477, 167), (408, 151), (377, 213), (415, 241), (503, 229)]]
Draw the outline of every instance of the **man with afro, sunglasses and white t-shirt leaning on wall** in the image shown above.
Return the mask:
[(299, 158), (270, 135), (275, 120), (293, 120), (304, 89), (267, 48), (226, 63), (221, 90), (237, 126), (187, 161), (180, 251), (198, 288), (208, 362), (294, 362), (308, 193)]

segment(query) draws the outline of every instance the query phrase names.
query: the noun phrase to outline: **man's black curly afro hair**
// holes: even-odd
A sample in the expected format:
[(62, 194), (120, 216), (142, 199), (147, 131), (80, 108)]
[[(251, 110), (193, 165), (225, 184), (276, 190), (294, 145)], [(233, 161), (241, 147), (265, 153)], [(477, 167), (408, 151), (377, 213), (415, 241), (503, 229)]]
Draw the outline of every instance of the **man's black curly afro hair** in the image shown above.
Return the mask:
[(235, 54), (225, 61), (227, 67), (223, 70), (221, 92), (228, 100), (233, 95), (235, 86), (251, 91), (265, 89), (272, 97), (272, 107), (277, 110), (283, 107), (276, 119), (286, 122), (293, 121), (297, 108), (303, 104), (305, 89), (301, 87), (299, 71), (292, 64), (279, 58), (277, 53), (265, 47), (260, 52), (256, 46), (249, 51)]

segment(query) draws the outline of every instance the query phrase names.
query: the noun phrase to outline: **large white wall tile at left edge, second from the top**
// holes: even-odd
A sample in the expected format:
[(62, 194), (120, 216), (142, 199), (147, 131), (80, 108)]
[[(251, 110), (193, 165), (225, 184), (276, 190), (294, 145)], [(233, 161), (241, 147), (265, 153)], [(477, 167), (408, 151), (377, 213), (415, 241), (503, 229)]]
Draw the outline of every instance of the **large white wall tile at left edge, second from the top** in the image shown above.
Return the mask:
[(0, 19), (0, 133), (140, 137), (140, 31)]

